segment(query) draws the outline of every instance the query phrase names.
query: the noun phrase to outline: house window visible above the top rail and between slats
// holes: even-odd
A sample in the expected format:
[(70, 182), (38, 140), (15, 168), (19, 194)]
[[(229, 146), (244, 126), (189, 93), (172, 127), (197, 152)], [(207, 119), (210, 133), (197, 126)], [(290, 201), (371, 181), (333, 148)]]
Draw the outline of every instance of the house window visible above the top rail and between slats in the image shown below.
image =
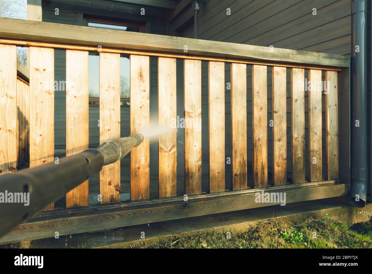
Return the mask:
[[(142, 22), (117, 22), (85, 19), (85, 25), (93, 28), (116, 29), (119, 31), (145, 32)], [(120, 55), (120, 98), (121, 104), (129, 101), (129, 55)], [(89, 53), (89, 101), (99, 102), (99, 53)]]

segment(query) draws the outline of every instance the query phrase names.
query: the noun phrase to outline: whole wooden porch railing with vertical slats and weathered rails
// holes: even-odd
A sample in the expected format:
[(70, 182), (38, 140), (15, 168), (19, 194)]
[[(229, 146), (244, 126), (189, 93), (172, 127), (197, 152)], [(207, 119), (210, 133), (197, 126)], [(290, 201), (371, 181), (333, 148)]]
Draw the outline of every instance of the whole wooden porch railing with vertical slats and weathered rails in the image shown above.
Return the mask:
[[(150, 57), (158, 58), (158, 117), (160, 126), (171, 126), (176, 112), (176, 58), (184, 61), (185, 124), (201, 119), (201, 61), (208, 62), (208, 122), (209, 122), (209, 193), (202, 193), (201, 131), (185, 128), (185, 194), (196, 195), (194, 209), (186, 208), (184, 198), (177, 198), (177, 129), (162, 135), (158, 141), (158, 199), (150, 199), (150, 145), (143, 144), (131, 151), (131, 201), (124, 208), (105, 208), (98, 214), (122, 212), (126, 218), (119, 226), (241, 210), (263, 205), (251, 201), (254, 193), (286, 191), (287, 203), (346, 195), (349, 162), (349, 66), (350, 59), (332, 54), (309, 53), (280, 48), (256, 47), (224, 42), (202, 41), (162, 35), (94, 29), (17, 19), (0, 19), (0, 169), (15, 167), (17, 135), (12, 121), (17, 117), (16, 45), (29, 47), (29, 118), (20, 131), (27, 134), (29, 126), (30, 167), (54, 159), (54, 49), (66, 50), (66, 155), (88, 147), (88, 53), (100, 52), (100, 143), (120, 137), (120, 54), (130, 55), (130, 126), (131, 133), (150, 122)], [(225, 63), (231, 64), (231, 160), (232, 190), (225, 190)], [(252, 68), (252, 139), (253, 174), (247, 171), (247, 65)], [(272, 70), (272, 133), (267, 140), (267, 67)], [(286, 69), (291, 69), (291, 115), (287, 117)], [(311, 85), (308, 92), (308, 129), (310, 181), (305, 181), (305, 71)], [(322, 154), (322, 72), (325, 72), (325, 140)], [(304, 83), (303, 85), (299, 83)], [(21, 93), (21, 92), (20, 92)], [(27, 92), (22, 92), (27, 94)], [(19, 93), (18, 93), (19, 95)], [(340, 113), (340, 107), (344, 113)], [(22, 105), (22, 103), (20, 103)], [(28, 108), (23, 108), (28, 111)], [(289, 115), (288, 115), (289, 116)], [(291, 149), (287, 151), (287, 118), (291, 120)], [(339, 120), (343, 119), (343, 123)], [(271, 123), (271, 122), (270, 122)], [(269, 127), (270, 128), (270, 127)], [(339, 148), (339, 132), (343, 147)], [(22, 142), (27, 140), (23, 137)], [(268, 186), (267, 147), (273, 146), (273, 186)], [(292, 158), (292, 183), (287, 183), (287, 157)], [(327, 159), (327, 179), (322, 177), (322, 158)], [(339, 159), (346, 159), (339, 163)], [(341, 169), (340, 169), (341, 167)], [(341, 173), (341, 175), (339, 174)], [(248, 188), (247, 178), (253, 177), (254, 188)], [(322, 182), (320, 182), (322, 181)], [(341, 183), (342, 181), (342, 183)], [(318, 188), (318, 189), (315, 189)], [(292, 193), (288, 196), (288, 193)], [(85, 207), (88, 201), (88, 180), (71, 190), (66, 208)], [(100, 204), (120, 202), (120, 163), (103, 167), (100, 173)], [(222, 199), (222, 200), (221, 200)], [(247, 200), (248, 199), (248, 200)], [(180, 204), (180, 201), (182, 203)], [(208, 202), (209, 201), (209, 202)], [(223, 202), (222, 202), (223, 201)], [(154, 204), (162, 204), (155, 211)], [(212, 206), (217, 202), (218, 207)], [(148, 209), (143, 205), (148, 203)], [(132, 207), (128, 207), (131, 205)], [(186, 204), (187, 205), (187, 204)], [(142, 208), (137, 208), (142, 206)], [(96, 206), (90, 207), (96, 210)], [(174, 210), (173, 210), (174, 208)], [(46, 210), (53, 210), (51, 204)], [(147, 210), (147, 211), (146, 211)], [(87, 218), (85, 210), (84, 216)], [(172, 213), (170, 213), (173, 211)], [(180, 211), (180, 212), (178, 212)], [(69, 211), (78, 214), (78, 210)], [(146, 213), (147, 212), (147, 213)], [(149, 213), (152, 212), (152, 213)], [(67, 214), (56, 211), (56, 216)], [(97, 214), (92, 213), (92, 214)], [(145, 214), (145, 215), (142, 215)], [(146, 214), (156, 214), (149, 218)], [(68, 214), (67, 214), (68, 215)], [(66, 215), (66, 216), (67, 216)], [(89, 214), (88, 214), (89, 215)], [(43, 218), (43, 214), (38, 218)], [(47, 216), (47, 215), (45, 215)], [(50, 214), (48, 214), (50, 219)], [(63, 218), (68, 218), (63, 215)], [(74, 222), (79, 218), (74, 215)], [(142, 217), (141, 217), (142, 216)], [(152, 216), (152, 215), (151, 215)], [(117, 218), (121, 218), (116, 216)], [(57, 218), (57, 217), (56, 217)], [(59, 217), (62, 218), (62, 217)], [(81, 216), (81, 218), (84, 218)], [(132, 217), (133, 218), (133, 217)], [(49, 220), (48, 219), (48, 220)], [(39, 219), (38, 219), (39, 220)], [(127, 220), (127, 219), (126, 219)], [(40, 221), (40, 220), (39, 220)], [(49, 220), (50, 221), (50, 220)], [(48, 222), (48, 221), (45, 221)], [(45, 223), (44, 223), (45, 224)], [(95, 226), (106, 229), (118, 222)], [(27, 225), (25, 225), (27, 226)], [(74, 227), (74, 226), (72, 226)], [(91, 231), (89, 227), (65, 229), (71, 234)], [(63, 230), (63, 229), (62, 229)], [(17, 230), (19, 233), (19, 230)], [(10, 233), (7, 240), (25, 239)], [(40, 237), (36, 231), (27, 238)], [(46, 234), (45, 234), (46, 233)], [(49, 235), (45, 232), (43, 235)], [(60, 232), (61, 234), (61, 232)], [(5, 240), (3, 240), (5, 241)]]

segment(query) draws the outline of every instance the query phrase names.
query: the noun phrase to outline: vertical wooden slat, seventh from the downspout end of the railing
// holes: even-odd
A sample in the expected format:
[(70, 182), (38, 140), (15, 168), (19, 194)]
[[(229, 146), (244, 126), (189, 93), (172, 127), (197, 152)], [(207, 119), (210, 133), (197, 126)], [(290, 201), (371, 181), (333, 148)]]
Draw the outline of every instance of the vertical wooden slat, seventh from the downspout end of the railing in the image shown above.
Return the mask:
[(225, 63), (208, 63), (209, 192), (225, 190)]

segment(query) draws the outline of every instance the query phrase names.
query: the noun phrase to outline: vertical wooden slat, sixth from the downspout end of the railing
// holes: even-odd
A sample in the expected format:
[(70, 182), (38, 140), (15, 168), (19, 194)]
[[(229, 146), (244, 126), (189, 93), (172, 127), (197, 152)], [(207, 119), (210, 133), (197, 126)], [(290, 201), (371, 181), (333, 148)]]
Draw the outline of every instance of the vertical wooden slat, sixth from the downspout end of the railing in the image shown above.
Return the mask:
[(232, 189), (247, 188), (247, 65), (231, 64)]

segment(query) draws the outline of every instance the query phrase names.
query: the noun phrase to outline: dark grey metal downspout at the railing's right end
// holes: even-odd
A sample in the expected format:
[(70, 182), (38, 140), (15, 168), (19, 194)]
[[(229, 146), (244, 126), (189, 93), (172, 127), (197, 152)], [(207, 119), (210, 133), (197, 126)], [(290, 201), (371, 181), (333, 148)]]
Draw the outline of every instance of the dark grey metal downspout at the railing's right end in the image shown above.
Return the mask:
[(366, 0), (352, 1), (350, 202), (356, 207), (366, 204), (368, 182), (367, 9)]

